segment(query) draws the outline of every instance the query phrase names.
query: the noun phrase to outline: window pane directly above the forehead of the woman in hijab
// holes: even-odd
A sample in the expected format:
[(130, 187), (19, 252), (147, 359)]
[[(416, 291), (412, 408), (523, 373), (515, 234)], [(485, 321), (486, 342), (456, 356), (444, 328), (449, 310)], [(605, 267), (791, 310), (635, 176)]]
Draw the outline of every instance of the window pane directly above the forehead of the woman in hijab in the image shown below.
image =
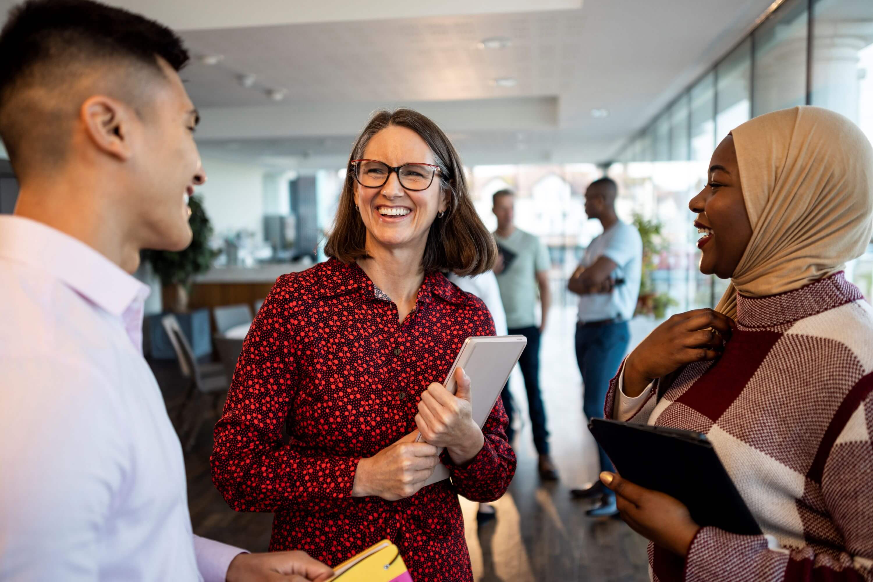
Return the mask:
[(716, 141), (752, 115), (752, 38), (734, 49), (716, 68)]

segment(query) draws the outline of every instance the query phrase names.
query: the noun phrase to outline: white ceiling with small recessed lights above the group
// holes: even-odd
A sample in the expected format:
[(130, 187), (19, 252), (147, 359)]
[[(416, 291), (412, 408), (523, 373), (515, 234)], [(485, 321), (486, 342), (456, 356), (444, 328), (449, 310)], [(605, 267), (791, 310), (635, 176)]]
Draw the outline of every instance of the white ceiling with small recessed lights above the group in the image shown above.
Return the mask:
[[(468, 164), (606, 161), (772, 1), (112, 3), (175, 27), (196, 55), (223, 55), (182, 74), (205, 156), (317, 168), (344, 166), (381, 106), (429, 115)], [(477, 48), (491, 37), (512, 46)], [(505, 77), (517, 85), (493, 86)], [(266, 96), (274, 88), (285, 100)]]

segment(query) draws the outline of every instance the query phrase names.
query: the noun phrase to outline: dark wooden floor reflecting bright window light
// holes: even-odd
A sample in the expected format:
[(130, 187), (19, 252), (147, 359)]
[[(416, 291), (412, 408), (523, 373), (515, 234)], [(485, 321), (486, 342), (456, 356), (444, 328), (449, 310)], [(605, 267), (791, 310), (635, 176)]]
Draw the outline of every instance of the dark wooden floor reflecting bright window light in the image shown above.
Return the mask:
[[(481, 582), (558, 582), (648, 580), (646, 542), (616, 519), (585, 516), (587, 502), (569, 498), (574, 485), (596, 477), (594, 441), (581, 413), (581, 379), (575, 364), (573, 312), (555, 311), (542, 343), (542, 387), (546, 401), (552, 452), (560, 483), (540, 483), (529, 422), (514, 447), (519, 467), (506, 495), (495, 507), (498, 518), (478, 530), (476, 503), (461, 499), (473, 572)], [(632, 342), (642, 339), (646, 325), (632, 327)], [(636, 338), (634, 336), (637, 336)], [(181, 380), (175, 363), (153, 363), (155, 375), (170, 402), (177, 400)], [(520, 377), (512, 392), (526, 417)], [(186, 455), (191, 521), (196, 534), (265, 551), (272, 514), (236, 513), (228, 508), (210, 480), (212, 447), (210, 419), (196, 448)]]

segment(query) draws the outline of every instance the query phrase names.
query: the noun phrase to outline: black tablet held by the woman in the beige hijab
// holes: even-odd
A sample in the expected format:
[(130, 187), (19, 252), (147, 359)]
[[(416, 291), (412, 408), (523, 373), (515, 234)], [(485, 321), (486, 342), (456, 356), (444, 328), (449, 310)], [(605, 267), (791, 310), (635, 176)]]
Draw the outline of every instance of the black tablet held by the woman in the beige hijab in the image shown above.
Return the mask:
[(676, 497), (700, 526), (761, 533), (706, 435), (602, 418), (588, 428), (623, 478)]

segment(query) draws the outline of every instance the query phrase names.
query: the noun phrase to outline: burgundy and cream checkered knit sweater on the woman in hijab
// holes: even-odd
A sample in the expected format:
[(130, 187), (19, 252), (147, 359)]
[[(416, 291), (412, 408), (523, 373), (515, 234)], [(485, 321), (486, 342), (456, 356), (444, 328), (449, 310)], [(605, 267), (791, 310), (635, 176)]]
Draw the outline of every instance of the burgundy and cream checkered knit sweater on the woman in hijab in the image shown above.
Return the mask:
[(873, 580), (873, 308), (838, 273), (739, 296), (737, 324), (630, 421), (705, 433), (765, 535), (705, 527), (684, 564), (650, 544), (652, 579)]

